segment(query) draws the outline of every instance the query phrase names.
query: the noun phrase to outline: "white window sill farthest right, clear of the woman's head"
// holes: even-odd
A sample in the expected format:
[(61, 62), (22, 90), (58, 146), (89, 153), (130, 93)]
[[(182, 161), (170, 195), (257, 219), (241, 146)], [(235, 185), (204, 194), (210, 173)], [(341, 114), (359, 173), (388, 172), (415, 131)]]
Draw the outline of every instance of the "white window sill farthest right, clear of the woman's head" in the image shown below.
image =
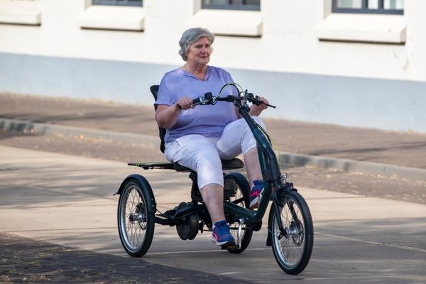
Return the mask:
[(332, 13), (315, 26), (320, 40), (405, 43), (404, 16)]

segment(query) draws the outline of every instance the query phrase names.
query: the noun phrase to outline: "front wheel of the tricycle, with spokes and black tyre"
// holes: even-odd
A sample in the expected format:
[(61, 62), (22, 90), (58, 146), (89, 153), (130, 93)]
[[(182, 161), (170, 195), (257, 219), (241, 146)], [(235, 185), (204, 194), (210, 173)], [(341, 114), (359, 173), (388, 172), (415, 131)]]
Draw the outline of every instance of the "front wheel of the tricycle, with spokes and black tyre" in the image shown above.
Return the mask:
[[(271, 208), (273, 255), (285, 273), (297, 275), (310, 261), (314, 243), (312, 217), (305, 199), (295, 191), (282, 194), (278, 208), (279, 212), (273, 212), (275, 210)], [(283, 231), (280, 231), (278, 222), (281, 222)]]

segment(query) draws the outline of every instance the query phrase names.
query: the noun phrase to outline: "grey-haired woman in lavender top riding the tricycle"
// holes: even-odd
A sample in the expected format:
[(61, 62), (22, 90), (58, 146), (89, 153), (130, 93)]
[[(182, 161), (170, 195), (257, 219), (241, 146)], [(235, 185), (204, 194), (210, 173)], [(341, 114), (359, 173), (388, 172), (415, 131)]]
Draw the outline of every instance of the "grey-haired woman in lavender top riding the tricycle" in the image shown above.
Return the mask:
[[(224, 84), (234, 82), (229, 72), (209, 66), (214, 35), (204, 28), (190, 28), (179, 41), (182, 67), (167, 72), (158, 90), (155, 121), (167, 129), (165, 158), (197, 171), (198, 187), (213, 222), (212, 241), (217, 245), (234, 243), (224, 216), (222, 159), (244, 154), (249, 182), (251, 209), (258, 207), (263, 191), (256, 141), (233, 104), (192, 107), (192, 99), (206, 92), (216, 95)], [(234, 87), (224, 94), (237, 94)], [(268, 101), (262, 98), (263, 102)], [(264, 126), (258, 115), (265, 104), (252, 105), (250, 114)]]

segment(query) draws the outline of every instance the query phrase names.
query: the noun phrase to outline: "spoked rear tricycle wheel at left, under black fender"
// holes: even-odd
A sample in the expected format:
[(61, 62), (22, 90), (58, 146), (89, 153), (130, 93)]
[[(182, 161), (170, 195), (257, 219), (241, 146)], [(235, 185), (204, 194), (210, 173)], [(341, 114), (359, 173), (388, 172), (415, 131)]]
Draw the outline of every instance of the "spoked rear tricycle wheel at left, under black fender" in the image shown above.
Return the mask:
[(141, 257), (151, 246), (155, 216), (148, 212), (148, 200), (153, 200), (149, 185), (129, 180), (119, 198), (117, 212), (119, 235), (124, 250), (130, 256)]

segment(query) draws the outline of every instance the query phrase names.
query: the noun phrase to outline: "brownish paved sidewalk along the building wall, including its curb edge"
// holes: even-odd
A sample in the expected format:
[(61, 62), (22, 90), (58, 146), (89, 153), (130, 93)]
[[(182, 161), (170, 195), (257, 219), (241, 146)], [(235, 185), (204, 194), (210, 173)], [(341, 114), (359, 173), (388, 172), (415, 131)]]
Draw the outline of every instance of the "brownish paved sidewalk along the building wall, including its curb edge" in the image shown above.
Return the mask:
[[(426, 182), (424, 134), (264, 121), (285, 165)], [(141, 143), (155, 149), (159, 145), (153, 108), (148, 106), (1, 94), (0, 129)]]

